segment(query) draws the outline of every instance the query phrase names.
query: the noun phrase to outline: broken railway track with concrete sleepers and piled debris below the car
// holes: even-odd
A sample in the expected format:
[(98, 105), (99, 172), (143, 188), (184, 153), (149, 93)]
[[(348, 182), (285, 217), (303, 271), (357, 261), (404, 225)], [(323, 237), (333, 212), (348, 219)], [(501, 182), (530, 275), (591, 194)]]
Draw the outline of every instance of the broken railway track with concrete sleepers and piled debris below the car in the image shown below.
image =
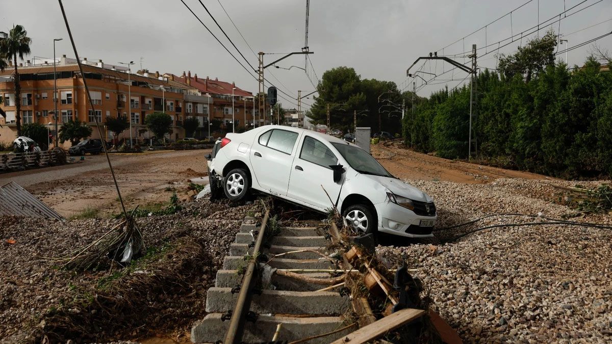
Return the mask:
[[(207, 291), (208, 314), (193, 324), (192, 342), (366, 343), (411, 321), (422, 326), (427, 312), (406, 307), (405, 293), (394, 294), (394, 283), (371, 260), (359, 264), (360, 249), (348, 247), (333, 224), (285, 227), (269, 212), (261, 223), (246, 217)], [(374, 277), (383, 300), (403, 306), (399, 312), (376, 320), (367, 297), (349, 288), (349, 276), (365, 275)]]

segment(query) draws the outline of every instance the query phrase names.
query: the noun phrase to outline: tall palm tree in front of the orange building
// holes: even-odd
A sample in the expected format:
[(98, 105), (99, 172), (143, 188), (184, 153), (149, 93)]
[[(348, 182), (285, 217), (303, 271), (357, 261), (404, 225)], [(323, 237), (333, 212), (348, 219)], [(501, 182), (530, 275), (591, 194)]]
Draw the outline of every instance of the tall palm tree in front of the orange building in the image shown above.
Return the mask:
[[(15, 66), (15, 121), (17, 122), (17, 136), (21, 136), (21, 85), (19, 84), (19, 72), (17, 72), (17, 56), (23, 61), (24, 55), (30, 54), (32, 39), (21, 25), (13, 25), (9, 34), (0, 32), (0, 56), (13, 61)], [(4, 59), (2, 59), (4, 60)], [(5, 62), (6, 64), (6, 62)]]

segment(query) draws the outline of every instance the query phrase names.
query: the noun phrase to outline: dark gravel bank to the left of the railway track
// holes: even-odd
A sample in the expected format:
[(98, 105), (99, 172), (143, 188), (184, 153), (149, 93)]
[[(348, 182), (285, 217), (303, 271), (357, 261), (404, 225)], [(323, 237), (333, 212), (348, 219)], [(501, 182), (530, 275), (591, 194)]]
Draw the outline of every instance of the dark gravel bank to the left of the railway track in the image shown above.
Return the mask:
[[(214, 285), (217, 269), (222, 266), (242, 219), (247, 212), (257, 212), (258, 208), (252, 204), (231, 207), (227, 202), (211, 203), (204, 199), (182, 205), (184, 209), (177, 214), (139, 219), (145, 242), (149, 247), (196, 242), (206, 251), (207, 261), (211, 263), (184, 276), (190, 290), (147, 296), (151, 297), (146, 304), (149, 313), (143, 309), (142, 319), (136, 320), (144, 327), (138, 331), (130, 328), (114, 333), (99, 331), (95, 334), (96, 341), (133, 339), (146, 335), (149, 330), (185, 331), (193, 320), (204, 314), (206, 290)], [(0, 343), (39, 341), (41, 332), (45, 332), (45, 315), (50, 310), (69, 304), (75, 291), (97, 293), (100, 279), (112, 272), (76, 274), (57, 269), (45, 257), (62, 256), (89, 244), (116, 223), (118, 220), (113, 219), (62, 223), (0, 217)], [(10, 244), (13, 240), (15, 244)], [(154, 286), (143, 286), (144, 290), (147, 288), (154, 290)], [(75, 308), (70, 312), (88, 310)]]

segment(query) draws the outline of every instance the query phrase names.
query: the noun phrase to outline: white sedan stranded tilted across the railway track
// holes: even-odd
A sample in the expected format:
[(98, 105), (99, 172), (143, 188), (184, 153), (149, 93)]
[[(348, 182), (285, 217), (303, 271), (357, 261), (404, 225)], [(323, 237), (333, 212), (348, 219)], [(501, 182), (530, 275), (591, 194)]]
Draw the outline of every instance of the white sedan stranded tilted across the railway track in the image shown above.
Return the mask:
[(431, 237), (438, 219), (430, 196), (364, 149), (310, 130), (265, 125), (228, 133), (211, 167), (230, 200), (256, 190), (319, 212), (336, 206), (358, 233)]

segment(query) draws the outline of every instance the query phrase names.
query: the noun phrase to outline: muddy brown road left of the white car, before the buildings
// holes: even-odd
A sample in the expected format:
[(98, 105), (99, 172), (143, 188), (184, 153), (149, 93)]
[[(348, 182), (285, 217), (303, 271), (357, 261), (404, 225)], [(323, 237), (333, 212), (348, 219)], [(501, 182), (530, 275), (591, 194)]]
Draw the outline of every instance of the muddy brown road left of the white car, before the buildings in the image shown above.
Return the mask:
[[(172, 189), (188, 179), (206, 175), (209, 150), (111, 154), (126, 206), (162, 203)], [(14, 181), (65, 217), (87, 209), (102, 214), (119, 212), (113, 179), (104, 155), (86, 155), (84, 162), (0, 174), (0, 184)]]

